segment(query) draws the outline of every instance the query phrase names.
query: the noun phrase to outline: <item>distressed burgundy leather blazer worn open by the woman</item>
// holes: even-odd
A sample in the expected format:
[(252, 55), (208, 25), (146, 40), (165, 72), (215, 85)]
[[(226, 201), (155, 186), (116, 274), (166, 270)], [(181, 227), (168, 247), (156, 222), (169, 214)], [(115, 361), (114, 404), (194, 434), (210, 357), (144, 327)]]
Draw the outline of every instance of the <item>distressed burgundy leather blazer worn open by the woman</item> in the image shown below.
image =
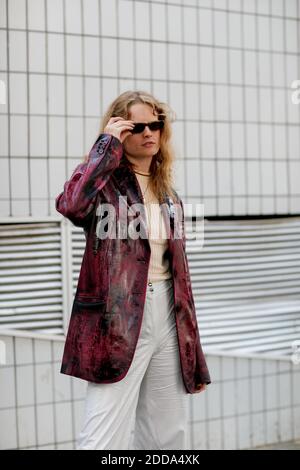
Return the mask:
[[(121, 141), (100, 134), (88, 161), (75, 168), (55, 201), (57, 211), (83, 227), (86, 235), (61, 372), (96, 383), (117, 382), (127, 374), (147, 290), (149, 240), (128, 235), (129, 224), (137, 221), (136, 217), (140, 233), (146, 233), (146, 213), (138, 180), (122, 157)], [(103, 204), (114, 209), (109, 217), (104, 217), (107, 212), (101, 213)], [(142, 210), (130, 214), (133, 204), (141, 204)], [(166, 195), (161, 210), (169, 231), (165, 256), (173, 279), (182, 377), (187, 393), (197, 393), (198, 384), (211, 381), (200, 344), (185, 252), (183, 203), (175, 190), (174, 197)], [(116, 224), (107, 224), (113, 219)], [(107, 227), (110, 236), (105, 238), (101, 234)]]

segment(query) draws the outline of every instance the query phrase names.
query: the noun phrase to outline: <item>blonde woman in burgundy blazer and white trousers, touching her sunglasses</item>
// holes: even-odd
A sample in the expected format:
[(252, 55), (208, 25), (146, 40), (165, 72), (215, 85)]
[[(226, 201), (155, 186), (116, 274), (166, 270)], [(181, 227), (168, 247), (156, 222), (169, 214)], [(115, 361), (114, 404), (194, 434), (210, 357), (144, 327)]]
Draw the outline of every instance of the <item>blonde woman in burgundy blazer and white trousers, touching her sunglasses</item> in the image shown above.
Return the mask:
[(88, 381), (78, 449), (188, 449), (210, 383), (170, 139), (166, 104), (122, 93), (56, 199), (87, 240), (61, 368)]

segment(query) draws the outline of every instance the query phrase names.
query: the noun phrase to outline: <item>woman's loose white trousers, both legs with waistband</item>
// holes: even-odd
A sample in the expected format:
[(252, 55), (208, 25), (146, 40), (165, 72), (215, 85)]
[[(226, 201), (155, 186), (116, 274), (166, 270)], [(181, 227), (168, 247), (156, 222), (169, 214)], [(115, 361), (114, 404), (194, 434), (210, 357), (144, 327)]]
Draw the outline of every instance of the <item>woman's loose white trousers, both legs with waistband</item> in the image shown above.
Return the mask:
[(77, 449), (189, 449), (172, 279), (147, 284), (133, 361), (119, 382), (88, 382)]

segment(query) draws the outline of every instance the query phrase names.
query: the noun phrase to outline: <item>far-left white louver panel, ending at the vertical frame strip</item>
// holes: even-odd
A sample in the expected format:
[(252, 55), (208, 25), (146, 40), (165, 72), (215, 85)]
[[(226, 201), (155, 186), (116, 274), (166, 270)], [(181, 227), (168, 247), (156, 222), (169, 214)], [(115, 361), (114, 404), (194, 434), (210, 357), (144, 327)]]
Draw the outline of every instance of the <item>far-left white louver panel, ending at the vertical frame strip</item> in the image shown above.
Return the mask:
[(0, 225), (0, 329), (63, 332), (61, 225)]

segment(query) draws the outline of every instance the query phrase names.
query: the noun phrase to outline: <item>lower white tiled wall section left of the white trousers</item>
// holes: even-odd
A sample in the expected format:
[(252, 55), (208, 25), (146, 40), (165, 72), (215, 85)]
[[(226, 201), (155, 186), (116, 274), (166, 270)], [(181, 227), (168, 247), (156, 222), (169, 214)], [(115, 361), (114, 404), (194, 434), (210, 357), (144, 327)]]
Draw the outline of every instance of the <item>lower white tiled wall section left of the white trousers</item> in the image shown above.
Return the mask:
[(60, 374), (63, 338), (14, 335), (0, 337), (0, 449), (72, 449), (86, 383)]

